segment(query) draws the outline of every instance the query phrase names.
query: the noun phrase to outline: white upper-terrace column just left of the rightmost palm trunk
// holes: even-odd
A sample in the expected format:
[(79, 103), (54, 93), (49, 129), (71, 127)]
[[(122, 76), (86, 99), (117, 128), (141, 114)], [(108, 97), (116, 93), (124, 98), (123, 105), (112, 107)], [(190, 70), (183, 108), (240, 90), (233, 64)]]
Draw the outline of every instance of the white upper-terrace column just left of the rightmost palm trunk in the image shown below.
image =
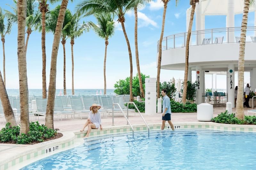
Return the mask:
[[(227, 27), (235, 27), (235, 1), (228, 0)], [(229, 31), (229, 42), (235, 41), (235, 32)]]

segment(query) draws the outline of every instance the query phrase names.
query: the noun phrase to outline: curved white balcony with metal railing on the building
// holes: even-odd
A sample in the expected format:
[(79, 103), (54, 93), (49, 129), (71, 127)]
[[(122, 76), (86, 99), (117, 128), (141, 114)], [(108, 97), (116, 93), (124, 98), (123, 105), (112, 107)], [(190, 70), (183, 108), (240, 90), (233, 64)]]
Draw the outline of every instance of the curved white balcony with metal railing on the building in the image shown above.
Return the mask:
[[(215, 28), (192, 31), (189, 44), (189, 67), (226, 70), (227, 64), (238, 64), (241, 27)], [(247, 27), (245, 70), (256, 67), (256, 26)], [(185, 47), (188, 33), (178, 33), (163, 38), (161, 68), (184, 70)], [(158, 53), (159, 41), (157, 42)], [(192, 68), (193, 70), (193, 68)], [(210, 69), (211, 70), (211, 69)], [(216, 69), (215, 69), (216, 70)]]

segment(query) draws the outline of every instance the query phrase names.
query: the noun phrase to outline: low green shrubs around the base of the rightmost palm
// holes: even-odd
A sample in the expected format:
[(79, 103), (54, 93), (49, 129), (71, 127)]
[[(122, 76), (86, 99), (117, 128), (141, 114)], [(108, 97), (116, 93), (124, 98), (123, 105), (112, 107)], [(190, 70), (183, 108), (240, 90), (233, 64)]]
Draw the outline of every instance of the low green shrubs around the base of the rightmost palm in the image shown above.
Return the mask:
[(226, 123), (226, 124), (252, 124), (256, 125), (256, 116), (244, 116), (244, 120), (240, 120), (234, 113), (228, 114), (226, 110), (224, 113), (220, 113), (218, 116), (212, 118), (212, 122)]

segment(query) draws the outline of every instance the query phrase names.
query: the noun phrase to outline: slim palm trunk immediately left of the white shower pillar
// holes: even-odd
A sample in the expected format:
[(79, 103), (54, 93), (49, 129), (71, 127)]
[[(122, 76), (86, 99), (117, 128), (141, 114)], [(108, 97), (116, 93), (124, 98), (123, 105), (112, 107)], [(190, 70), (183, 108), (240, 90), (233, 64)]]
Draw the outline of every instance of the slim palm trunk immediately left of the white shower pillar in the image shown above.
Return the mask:
[(140, 61), (139, 61), (139, 50), (138, 50), (138, 13), (137, 13), (137, 8), (134, 8), (134, 15), (135, 15), (135, 27), (134, 27), (135, 57), (136, 57), (136, 65), (137, 65), (138, 78), (139, 78), (139, 84), (140, 84), (140, 93), (141, 93), (141, 97), (144, 98), (145, 94), (144, 94), (144, 89), (143, 89), (141, 74), (140, 74)]

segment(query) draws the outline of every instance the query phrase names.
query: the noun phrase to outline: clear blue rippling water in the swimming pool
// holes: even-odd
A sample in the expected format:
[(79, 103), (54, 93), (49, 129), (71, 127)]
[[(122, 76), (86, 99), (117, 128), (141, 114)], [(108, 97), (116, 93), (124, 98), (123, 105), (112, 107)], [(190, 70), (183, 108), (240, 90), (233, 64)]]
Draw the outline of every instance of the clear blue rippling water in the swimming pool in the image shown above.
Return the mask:
[(256, 133), (196, 129), (96, 139), (22, 170), (255, 168)]

